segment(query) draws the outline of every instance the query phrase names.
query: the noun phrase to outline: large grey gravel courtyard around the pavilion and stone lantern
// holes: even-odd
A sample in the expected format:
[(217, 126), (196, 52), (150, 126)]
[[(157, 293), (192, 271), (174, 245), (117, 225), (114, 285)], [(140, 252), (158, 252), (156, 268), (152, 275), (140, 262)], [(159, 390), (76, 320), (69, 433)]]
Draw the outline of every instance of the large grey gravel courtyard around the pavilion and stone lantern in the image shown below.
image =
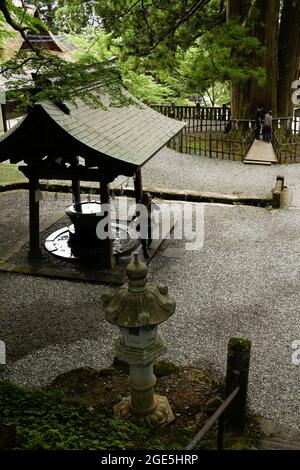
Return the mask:
[[(45, 193), (43, 224), (47, 214), (55, 215), (53, 202), (54, 195)], [(55, 202), (61, 210), (69, 196), (59, 195)], [(27, 236), (27, 194), (2, 193), (0, 203), (3, 254)], [(300, 426), (300, 366), (292, 365), (291, 344), (300, 340), (299, 215), (206, 204), (202, 249), (168, 258), (164, 249), (182, 248), (183, 242), (165, 242), (149, 268), (149, 280), (166, 283), (177, 302), (173, 318), (161, 327), (166, 357), (224, 373), (229, 337), (251, 339), (250, 406), (295, 428)], [(104, 320), (100, 302), (109, 287), (12, 273), (0, 273), (0, 282), (6, 377), (32, 387), (83, 365), (111, 364), (117, 330)]]

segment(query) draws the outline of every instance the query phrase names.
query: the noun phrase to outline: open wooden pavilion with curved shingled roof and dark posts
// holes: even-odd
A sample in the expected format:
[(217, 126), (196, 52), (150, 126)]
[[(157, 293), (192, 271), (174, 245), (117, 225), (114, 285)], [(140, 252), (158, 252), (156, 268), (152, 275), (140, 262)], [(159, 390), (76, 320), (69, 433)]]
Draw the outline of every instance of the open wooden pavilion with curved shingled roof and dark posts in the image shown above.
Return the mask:
[[(141, 168), (185, 126), (135, 98), (121, 108), (110, 107), (107, 96), (102, 102), (105, 109), (92, 109), (81, 100), (76, 105), (40, 102), (0, 137), (0, 162), (24, 162), (19, 169), (29, 180), (31, 257), (40, 253), (40, 179), (71, 180), (74, 202), (80, 202), (80, 181), (97, 181), (100, 201), (108, 203), (109, 183), (125, 175), (134, 177), (139, 201)], [(106, 243), (102, 267), (111, 268), (112, 243)]]

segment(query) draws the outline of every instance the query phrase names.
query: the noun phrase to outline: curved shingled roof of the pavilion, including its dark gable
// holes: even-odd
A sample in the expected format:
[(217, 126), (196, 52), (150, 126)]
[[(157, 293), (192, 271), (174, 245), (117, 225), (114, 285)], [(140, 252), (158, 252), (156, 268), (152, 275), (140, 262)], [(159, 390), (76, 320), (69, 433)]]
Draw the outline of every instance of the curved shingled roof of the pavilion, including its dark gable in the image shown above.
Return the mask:
[(50, 101), (40, 102), (0, 138), (0, 161), (38, 164), (45, 156), (81, 156), (100, 169), (132, 175), (185, 126), (134, 101), (92, 109), (78, 100), (67, 104), (69, 113)]

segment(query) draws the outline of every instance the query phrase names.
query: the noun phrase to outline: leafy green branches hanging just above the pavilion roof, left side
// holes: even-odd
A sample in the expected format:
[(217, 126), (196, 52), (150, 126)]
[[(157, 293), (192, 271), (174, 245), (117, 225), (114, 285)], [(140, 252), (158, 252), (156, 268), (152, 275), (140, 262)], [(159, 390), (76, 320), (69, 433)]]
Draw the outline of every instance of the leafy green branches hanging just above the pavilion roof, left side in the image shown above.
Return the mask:
[[(28, 73), (29, 67), (37, 70), (34, 80)], [(105, 107), (96, 91), (102, 96), (108, 95), (112, 106), (132, 103), (132, 99), (122, 92), (119, 70), (111, 67), (108, 61), (95, 62), (91, 57), (74, 63), (49, 52), (40, 51), (28, 56), (21, 51), (14, 59), (2, 64), (2, 75), (7, 79), (8, 96), (17, 98), (19, 108), (25, 110), (44, 99), (75, 103), (81, 98), (92, 108)]]

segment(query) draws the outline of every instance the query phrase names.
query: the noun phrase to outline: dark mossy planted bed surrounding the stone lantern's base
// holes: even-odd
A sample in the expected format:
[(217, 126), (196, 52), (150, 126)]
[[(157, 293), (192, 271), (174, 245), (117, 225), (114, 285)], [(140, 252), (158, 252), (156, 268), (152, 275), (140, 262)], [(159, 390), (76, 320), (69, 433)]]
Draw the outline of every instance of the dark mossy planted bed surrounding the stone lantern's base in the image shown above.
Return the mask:
[[(4, 429), (0, 448), (184, 449), (208, 419), (212, 410), (207, 404), (219, 396), (223, 385), (202, 369), (179, 368), (165, 361), (160, 366), (163, 375), (157, 377), (155, 392), (168, 397), (175, 421), (154, 430), (113, 416), (113, 406), (129, 393), (128, 375), (116, 367), (100, 372), (73, 370), (57, 377), (47, 389), (25, 390), (0, 382), (0, 426)], [(247, 448), (240, 438), (229, 444), (229, 448)], [(216, 448), (215, 431), (201, 446)]]

